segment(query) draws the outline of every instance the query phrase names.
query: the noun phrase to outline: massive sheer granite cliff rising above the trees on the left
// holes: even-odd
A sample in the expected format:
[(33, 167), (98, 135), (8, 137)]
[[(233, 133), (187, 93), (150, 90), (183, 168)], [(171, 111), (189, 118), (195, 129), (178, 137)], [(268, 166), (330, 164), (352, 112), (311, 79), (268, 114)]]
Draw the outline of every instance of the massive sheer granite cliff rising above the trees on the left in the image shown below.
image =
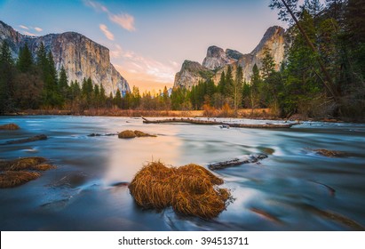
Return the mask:
[(0, 44), (7, 41), (12, 48), (12, 56), (18, 57), (20, 48), (28, 44), (36, 58), (36, 52), (43, 43), (46, 51), (51, 51), (58, 72), (63, 66), (68, 81), (91, 77), (93, 84), (102, 84), (107, 92), (115, 94), (130, 91), (128, 82), (110, 63), (109, 50), (86, 36), (75, 32), (50, 34), (46, 36), (23, 36), (12, 27), (0, 21)]

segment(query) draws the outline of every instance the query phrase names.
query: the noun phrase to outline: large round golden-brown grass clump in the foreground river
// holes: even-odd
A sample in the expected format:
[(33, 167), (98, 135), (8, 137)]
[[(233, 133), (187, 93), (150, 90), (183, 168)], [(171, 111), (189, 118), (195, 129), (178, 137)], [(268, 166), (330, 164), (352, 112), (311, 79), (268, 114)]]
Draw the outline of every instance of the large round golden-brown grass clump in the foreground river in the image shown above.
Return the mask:
[(145, 165), (129, 186), (136, 203), (145, 208), (168, 206), (177, 213), (211, 219), (226, 209), (231, 197), (216, 185), (223, 180), (200, 165), (167, 167), (161, 162)]

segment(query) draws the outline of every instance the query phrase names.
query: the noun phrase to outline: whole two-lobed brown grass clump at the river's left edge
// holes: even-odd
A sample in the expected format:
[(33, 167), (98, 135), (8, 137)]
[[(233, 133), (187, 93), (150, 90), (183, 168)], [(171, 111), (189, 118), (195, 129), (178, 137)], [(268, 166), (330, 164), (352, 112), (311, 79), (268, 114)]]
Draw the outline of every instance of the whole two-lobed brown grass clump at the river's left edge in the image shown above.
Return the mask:
[(40, 177), (34, 171), (55, 169), (56, 166), (44, 164), (44, 157), (23, 157), (0, 162), (0, 188), (12, 188)]

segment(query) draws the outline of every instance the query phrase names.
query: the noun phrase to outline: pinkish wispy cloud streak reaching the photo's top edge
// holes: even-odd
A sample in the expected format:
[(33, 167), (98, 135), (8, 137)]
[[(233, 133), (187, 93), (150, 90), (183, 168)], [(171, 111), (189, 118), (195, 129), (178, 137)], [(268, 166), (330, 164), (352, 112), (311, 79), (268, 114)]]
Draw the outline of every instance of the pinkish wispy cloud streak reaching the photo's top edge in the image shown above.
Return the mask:
[(96, 12), (105, 12), (107, 13), (107, 17), (109, 20), (113, 21), (115, 24), (119, 25), (120, 27), (128, 30), (128, 31), (134, 31), (136, 28), (134, 27), (134, 17), (129, 13), (119, 13), (115, 14), (113, 12), (110, 12), (107, 7), (103, 4), (99, 4), (96, 1), (91, 0), (83, 0), (83, 3), (93, 8)]

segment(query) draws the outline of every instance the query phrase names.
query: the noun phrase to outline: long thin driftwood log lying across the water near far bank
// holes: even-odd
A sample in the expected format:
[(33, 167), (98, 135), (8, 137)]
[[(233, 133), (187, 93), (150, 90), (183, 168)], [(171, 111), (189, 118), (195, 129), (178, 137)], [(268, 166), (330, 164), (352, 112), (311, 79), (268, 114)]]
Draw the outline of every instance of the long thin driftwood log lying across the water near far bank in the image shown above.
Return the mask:
[(165, 124), (165, 123), (187, 123), (187, 124), (213, 124), (213, 125), (228, 125), (229, 127), (237, 127), (237, 128), (290, 128), (293, 125), (297, 125), (300, 123), (291, 123), (291, 124), (237, 124), (237, 123), (226, 123), (226, 122), (218, 122), (218, 121), (210, 121), (210, 120), (199, 120), (199, 119), (191, 119), (191, 118), (169, 118), (169, 119), (161, 119), (161, 120), (149, 120), (146, 117), (143, 117), (143, 123), (145, 124)]

